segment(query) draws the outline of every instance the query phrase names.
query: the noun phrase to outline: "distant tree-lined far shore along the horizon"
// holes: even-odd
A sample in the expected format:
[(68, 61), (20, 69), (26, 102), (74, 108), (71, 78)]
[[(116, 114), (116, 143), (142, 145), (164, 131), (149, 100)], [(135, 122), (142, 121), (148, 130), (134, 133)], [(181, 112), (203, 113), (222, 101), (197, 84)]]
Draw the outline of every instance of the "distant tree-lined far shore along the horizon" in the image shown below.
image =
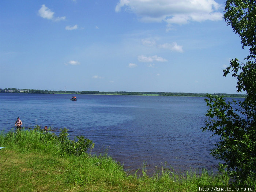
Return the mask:
[[(129, 91), (51, 91), (38, 89), (16, 89), (0, 88), (0, 93), (33, 93), (33, 94), (98, 94), (98, 95), (159, 95), (159, 96), (189, 96), (189, 97), (206, 97), (206, 93), (166, 93), (166, 92), (129, 92)], [(244, 94), (210, 94), (218, 97), (246, 97)]]

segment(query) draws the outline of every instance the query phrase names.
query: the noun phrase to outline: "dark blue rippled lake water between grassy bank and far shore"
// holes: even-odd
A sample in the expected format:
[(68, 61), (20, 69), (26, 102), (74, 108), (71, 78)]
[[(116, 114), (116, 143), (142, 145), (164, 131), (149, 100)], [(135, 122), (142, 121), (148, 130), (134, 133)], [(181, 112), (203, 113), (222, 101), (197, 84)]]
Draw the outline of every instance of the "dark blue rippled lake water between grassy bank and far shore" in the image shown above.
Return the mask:
[[(172, 166), (217, 171), (210, 155), (217, 138), (202, 132), (203, 97), (0, 93), (0, 130), (17, 117), (23, 127), (67, 128), (69, 135), (93, 140), (94, 152), (108, 153), (130, 172), (146, 163), (147, 173)], [(58, 132), (56, 132), (58, 133)]]

